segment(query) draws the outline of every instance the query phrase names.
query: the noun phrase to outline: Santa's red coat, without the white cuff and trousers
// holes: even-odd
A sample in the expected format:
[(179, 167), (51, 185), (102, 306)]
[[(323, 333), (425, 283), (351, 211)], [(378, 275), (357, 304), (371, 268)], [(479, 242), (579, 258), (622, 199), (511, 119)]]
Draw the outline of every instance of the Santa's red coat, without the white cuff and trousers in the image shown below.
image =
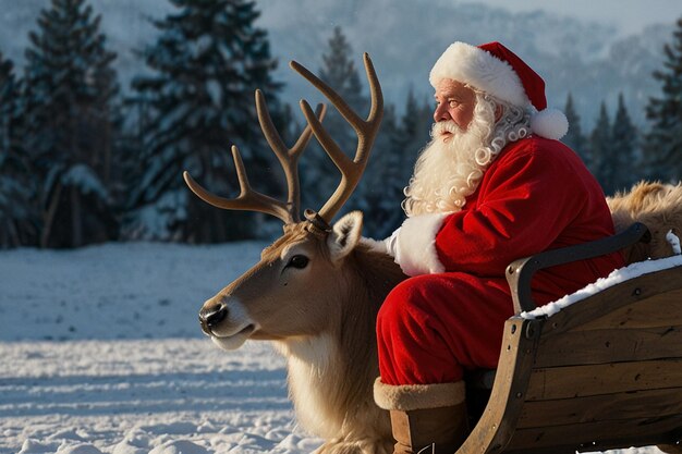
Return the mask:
[[(503, 277), (513, 260), (613, 234), (601, 187), (577, 155), (558, 140), (509, 145), (485, 172), (464, 209), (436, 235), (447, 271)], [(620, 254), (540, 271), (541, 302), (582, 289), (624, 266)]]

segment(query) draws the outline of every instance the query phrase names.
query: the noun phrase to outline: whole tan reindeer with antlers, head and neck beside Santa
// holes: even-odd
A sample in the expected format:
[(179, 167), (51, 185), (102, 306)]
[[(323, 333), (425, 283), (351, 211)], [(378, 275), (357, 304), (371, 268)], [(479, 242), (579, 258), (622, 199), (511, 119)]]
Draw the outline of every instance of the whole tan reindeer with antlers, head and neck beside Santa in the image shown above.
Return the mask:
[[(382, 116), (381, 88), (366, 53), (364, 63), (372, 94), (366, 120), (309, 71), (291, 62), (356, 131), (353, 160), (322, 127), (325, 107), (313, 112), (306, 101), (301, 101), (301, 109), (307, 126), (287, 148), (256, 90), (260, 128), (284, 170), (285, 203), (252, 189), (236, 146), (232, 147), (241, 188), (236, 198), (210, 194), (184, 172), (190, 188), (205, 201), (266, 212), (284, 222), (283, 235), (263, 250), (260, 261), (204, 304), (199, 321), (224, 349), (239, 348), (246, 340), (273, 342), (287, 357), (289, 393), (299, 421), (325, 439), (320, 453), (389, 453), (393, 445), (388, 412), (373, 400), (379, 375), (375, 322), (386, 295), (405, 277), (391, 257), (362, 238), (361, 212), (330, 225), (362, 176)], [(318, 212), (306, 210), (301, 220), (296, 165), (312, 134), (341, 171), (341, 182)]]

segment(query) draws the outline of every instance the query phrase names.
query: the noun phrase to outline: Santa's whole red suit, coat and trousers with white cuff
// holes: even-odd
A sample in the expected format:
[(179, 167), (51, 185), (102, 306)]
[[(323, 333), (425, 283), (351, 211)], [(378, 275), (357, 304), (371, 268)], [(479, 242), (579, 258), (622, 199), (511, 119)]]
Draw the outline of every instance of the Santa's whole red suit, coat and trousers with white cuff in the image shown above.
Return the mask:
[[(452, 381), (462, 368), (495, 367), (513, 314), (507, 266), (612, 234), (604, 193), (574, 151), (535, 136), (509, 144), (461, 211), (416, 216), (400, 229), (397, 261), (416, 278), (379, 312), (382, 381)], [(533, 280), (535, 300), (558, 299), (622, 266), (617, 253), (543, 270)], [(448, 363), (455, 367), (443, 373)]]

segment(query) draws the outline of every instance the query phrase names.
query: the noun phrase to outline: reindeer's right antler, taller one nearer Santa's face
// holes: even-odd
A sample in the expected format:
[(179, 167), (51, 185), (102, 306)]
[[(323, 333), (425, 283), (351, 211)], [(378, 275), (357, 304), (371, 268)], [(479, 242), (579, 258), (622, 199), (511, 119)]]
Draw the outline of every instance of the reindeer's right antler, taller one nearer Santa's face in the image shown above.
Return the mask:
[[(339, 94), (337, 94), (303, 65), (295, 61), (290, 63), (290, 66), (294, 71), (305, 77), (319, 91), (321, 91), (322, 95), (329, 99), (329, 101), (331, 101), (339, 113), (341, 113), (345, 121), (348, 121), (357, 133), (357, 148), (355, 149), (355, 157), (351, 160), (324, 128), (320, 121), (313, 113), (310, 106), (305, 100), (301, 101), (301, 109), (303, 110), (303, 114), (305, 115), (308, 125), (313, 128), (315, 137), (317, 137), (317, 140), (320, 143), (327, 155), (329, 155), (333, 163), (341, 171), (341, 182), (331, 197), (317, 213), (327, 223), (331, 222), (331, 219), (341, 209), (341, 207), (343, 207), (343, 204), (345, 204), (351, 194), (353, 194), (355, 186), (357, 186), (357, 183), (360, 182), (360, 179), (367, 165), (369, 152), (377, 133), (379, 132), (379, 125), (381, 124), (381, 118), (383, 115), (383, 96), (381, 94), (379, 78), (377, 77), (377, 73), (369, 56), (365, 52), (363, 57), (372, 97), (372, 108), (369, 109), (367, 120), (361, 119), (341, 98), (341, 96), (339, 96)], [(310, 214), (315, 216), (315, 213)]]

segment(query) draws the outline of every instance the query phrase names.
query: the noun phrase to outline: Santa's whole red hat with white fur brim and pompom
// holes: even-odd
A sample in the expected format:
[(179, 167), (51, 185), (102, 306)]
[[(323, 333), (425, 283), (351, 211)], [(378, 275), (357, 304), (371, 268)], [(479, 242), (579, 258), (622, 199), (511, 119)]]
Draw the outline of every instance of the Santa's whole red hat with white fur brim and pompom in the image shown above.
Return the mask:
[(440, 56), (429, 75), (434, 87), (441, 78), (451, 78), (511, 105), (535, 107), (531, 116), (534, 134), (559, 139), (569, 131), (563, 112), (547, 109), (545, 81), (500, 42), (472, 46), (454, 42)]

